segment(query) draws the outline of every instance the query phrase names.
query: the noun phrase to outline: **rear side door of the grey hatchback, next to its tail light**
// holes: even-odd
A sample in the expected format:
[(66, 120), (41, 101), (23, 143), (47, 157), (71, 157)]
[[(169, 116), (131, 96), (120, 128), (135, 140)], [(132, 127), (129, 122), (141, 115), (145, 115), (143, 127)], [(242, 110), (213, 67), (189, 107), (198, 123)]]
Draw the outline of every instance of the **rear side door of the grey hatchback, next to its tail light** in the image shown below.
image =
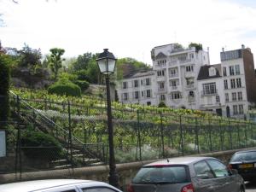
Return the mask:
[(198, 192), (215, 192), (217, 188), (216, 179), (211, 167), (205, 160), (194, 164), (195, 177), (192, 178), (195, 191)]

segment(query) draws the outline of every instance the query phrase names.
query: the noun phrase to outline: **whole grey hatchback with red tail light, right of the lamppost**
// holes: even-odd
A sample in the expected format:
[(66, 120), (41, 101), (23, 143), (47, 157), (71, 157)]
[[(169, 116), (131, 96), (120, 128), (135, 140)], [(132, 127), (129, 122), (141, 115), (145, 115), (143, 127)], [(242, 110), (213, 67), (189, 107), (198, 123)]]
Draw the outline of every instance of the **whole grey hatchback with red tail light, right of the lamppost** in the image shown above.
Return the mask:
[(179, 157), (143, 166), (128, 185), (129, 192), (244, 192), (236, 170), (212, 157)]

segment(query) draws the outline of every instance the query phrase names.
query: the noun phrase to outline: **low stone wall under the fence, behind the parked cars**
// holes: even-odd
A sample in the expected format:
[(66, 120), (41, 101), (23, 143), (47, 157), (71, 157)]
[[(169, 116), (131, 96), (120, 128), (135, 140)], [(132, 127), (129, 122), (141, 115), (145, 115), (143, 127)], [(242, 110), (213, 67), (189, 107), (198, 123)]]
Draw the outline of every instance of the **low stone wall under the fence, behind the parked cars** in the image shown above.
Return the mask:
[[(246, 148), (249, 149), (249, 148)], [(215, 152), (209, 154), (196, 154), (193, 156), (212, 156), (222, 160), (227, 163), (230, 160), (232, 154), (234, 154), (238, 149)], [(240, 149), (241, 150), (241, 149)], [(131, 182), (131, 178), (135, 176), (138, 169), (150, 162), (156, 160), (144, 160), (132, 163), (118, 164), (117, 172), (119, 174), (119, 185), (120, 189), (126, 189), (127, 184)], [(49, 179), (49, 178), (80, 178), (80, 179), (90, 179), (98, 180), (108, 183), (108, 166), (90, 166), (81, 167), (73, 169), (62, 169), (62, 170), (52, 170), (52, 171), (41, 171), (41, 172), (23, 172), (21, 175), (19, 173), (11, 174), (0, 174), (0, 184), (1, 183), (11, 183), (19, 180), (35, 180), (35, 179)]]

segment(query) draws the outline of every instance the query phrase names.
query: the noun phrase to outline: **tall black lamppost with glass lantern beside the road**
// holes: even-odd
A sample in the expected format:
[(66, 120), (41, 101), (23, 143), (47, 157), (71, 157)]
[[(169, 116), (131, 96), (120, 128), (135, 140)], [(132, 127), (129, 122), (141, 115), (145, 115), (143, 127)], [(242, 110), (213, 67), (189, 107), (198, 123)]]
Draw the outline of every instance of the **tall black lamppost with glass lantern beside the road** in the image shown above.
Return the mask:
[(114, 187), (119, 187), (118, 175), (116, 173), (114, 148), (113, 148), (113, 124), (112, 124), (112, 112), (111, 112), (111, 98), (109, 89), (109, 74), (114, 73), (115, 62), (113, 54), (108, 52), (108, 49), (104, 49), (98, 59), (97, 64), (102, 74), (106, 75), (107, 85), (107, 105), (108, 105), (108, 144), (109, 144), (109, 176), (108, 182)]

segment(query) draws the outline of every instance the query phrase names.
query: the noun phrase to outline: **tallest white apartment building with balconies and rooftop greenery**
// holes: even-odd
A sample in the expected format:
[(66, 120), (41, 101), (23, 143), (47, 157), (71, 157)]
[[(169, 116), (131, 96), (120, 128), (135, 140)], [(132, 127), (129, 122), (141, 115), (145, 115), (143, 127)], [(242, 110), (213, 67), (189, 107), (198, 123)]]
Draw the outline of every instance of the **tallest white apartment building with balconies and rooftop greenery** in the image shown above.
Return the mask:
[(156, 102), (172, 108), (198, 108), (197, 74), (209, 64), (208, 52), (178, 44), (154, 47), (151, 51), (156, 73)]

